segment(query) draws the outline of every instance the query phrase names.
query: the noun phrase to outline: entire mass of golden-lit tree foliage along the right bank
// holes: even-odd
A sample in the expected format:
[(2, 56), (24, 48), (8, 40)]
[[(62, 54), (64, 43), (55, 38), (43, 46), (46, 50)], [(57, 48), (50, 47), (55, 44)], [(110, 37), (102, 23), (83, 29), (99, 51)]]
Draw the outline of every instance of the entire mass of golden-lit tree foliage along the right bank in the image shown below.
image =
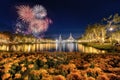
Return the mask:
[[(104, 24), (95, 23), (88, 25), (82, 40), (88, 40), (89, 42), (100, 42), (104, 43), (107, 38), (120, 42), (120, 35), (116, 33), (120, 27), (120, 16), (119, 14), (110, 15), (108, 18), (103, 18)], [(113, 28), (114, 31), (110, 32), (108, 29)], [(110, 41), (111, 42), (111, 41)]]

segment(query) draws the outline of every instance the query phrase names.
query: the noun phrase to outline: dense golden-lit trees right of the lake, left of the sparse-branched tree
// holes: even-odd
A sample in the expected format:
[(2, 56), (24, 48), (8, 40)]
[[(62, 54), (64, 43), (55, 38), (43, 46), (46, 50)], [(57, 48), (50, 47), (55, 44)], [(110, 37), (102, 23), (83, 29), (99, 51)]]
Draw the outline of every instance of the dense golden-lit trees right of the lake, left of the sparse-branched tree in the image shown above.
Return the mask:
[(106, 38), (105, 25), (98, 23), (93, 25), (88, 25), (83, 38), (85, 40), (90, 40), (90, 42), (95, 41), (95, 42), (104, 43)]

